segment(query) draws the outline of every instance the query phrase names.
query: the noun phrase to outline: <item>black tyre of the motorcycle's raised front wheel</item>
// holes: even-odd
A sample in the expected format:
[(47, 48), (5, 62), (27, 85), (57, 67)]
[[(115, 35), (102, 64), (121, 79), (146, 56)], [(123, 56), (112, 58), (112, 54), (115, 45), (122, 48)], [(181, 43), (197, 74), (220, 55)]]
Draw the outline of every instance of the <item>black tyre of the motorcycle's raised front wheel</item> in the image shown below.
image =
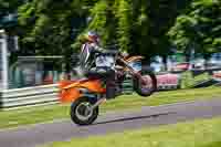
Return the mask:
[(150, 78), (149, 84), (151, 85), (151, 87), (149, 87), (149, 90), (144, 91), (141, 80), (139, 77), (135, 77), (134, 90), (140, 96), (150, 96), (154, 92), (157, 91), (157, 77), (151, 71), (141, 71), (140, 74)]

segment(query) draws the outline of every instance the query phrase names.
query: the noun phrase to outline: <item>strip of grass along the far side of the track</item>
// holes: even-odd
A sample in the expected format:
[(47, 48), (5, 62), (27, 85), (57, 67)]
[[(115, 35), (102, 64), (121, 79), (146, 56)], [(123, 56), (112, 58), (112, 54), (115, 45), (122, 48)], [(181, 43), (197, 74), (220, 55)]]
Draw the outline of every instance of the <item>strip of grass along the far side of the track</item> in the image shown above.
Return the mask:
[[(140, 108), (140, 106), (156, 106), (177, 102), (218, 98), (220, 97), (220, 87), (210, 87), (160, 92), (150, 97), (140, 97), (137, 95), (122, 96), (102, 105), (101, 112), (136, 109)], [(36, 124), (62, 118), (70, 118), (70, 104), (0, 112), (0, 128), (17, 127), (20, 125)]]

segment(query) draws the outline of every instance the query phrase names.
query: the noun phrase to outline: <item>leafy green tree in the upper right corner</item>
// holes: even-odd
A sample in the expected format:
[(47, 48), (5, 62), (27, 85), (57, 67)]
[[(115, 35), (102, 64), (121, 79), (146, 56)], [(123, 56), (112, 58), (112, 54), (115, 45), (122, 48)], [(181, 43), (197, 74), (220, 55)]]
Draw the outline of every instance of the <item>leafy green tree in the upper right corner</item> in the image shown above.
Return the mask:
[(193, 0), (180, 14), (168, 35), (177, 49), (209, 56), (221, 49), (221, 1)]

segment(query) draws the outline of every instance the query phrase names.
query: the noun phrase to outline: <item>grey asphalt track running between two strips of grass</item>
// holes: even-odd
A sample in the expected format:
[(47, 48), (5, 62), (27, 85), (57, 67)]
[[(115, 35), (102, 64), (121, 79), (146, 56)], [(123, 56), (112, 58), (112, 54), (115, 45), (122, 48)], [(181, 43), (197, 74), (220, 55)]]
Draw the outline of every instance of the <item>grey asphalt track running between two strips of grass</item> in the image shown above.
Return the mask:
[(76, 126), (70, 119), (0, 130), (0, 147), (34, 147), (51, 141), (70, 140), (109, 133), (120, 133), (157, 125), (175, 124), (196, 118), (221, 116), (221, 98), (141, 107), (124, 113), (108, 113), (90, 126)]

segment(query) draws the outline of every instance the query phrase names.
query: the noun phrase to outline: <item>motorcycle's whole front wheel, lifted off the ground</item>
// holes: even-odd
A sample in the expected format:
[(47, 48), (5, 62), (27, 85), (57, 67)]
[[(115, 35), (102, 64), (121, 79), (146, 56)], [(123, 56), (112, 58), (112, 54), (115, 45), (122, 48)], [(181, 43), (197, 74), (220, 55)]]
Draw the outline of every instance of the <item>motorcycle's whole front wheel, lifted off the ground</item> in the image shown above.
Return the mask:
[(134, 80), (134, 90), (140, 96), (150, 96), (157, 91), (157, 77), (151, 71), (141, 71), (139, 74), (141, 76)]

